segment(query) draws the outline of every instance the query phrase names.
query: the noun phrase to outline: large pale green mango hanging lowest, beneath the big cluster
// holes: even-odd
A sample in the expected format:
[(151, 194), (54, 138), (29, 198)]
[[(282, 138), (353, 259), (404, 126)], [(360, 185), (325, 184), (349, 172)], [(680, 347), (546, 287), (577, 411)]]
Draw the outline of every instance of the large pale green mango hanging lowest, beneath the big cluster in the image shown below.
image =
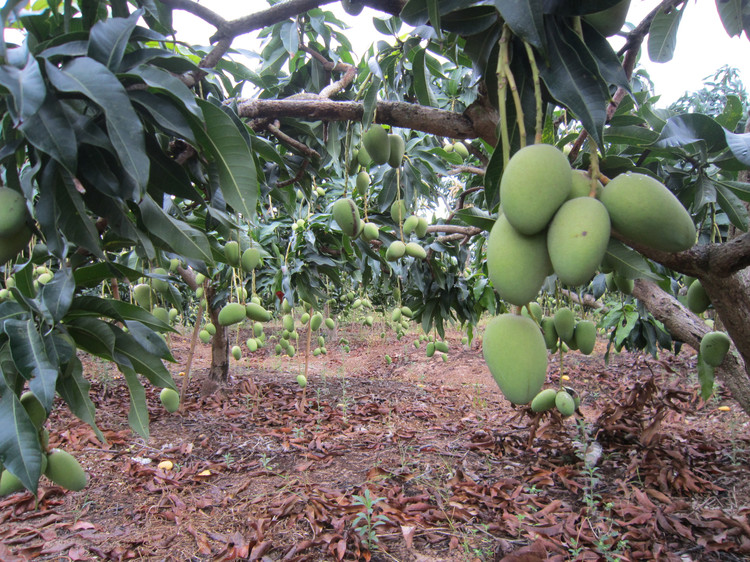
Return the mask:
[(528, 404), (547, 377), (547, 348), (536, 322), (524, 316), (501, 314), (484, 331), (484, 360), (505, 397)]

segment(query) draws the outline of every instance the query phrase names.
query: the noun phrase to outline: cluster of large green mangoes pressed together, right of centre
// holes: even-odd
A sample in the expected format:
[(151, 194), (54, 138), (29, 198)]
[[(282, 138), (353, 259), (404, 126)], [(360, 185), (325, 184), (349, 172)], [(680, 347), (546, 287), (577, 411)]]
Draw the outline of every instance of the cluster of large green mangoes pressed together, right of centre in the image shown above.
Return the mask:
[(695, 242), (690, 214), (659, 181), (624, 173), (601, 188), (551, 145), (527, 146), (510, 159), (500, 200), (487, 267), (500, 296), (518, 306), (531, 301), (552, 273), (569, 286), (590, 281), (612, 229), (665, 252)]

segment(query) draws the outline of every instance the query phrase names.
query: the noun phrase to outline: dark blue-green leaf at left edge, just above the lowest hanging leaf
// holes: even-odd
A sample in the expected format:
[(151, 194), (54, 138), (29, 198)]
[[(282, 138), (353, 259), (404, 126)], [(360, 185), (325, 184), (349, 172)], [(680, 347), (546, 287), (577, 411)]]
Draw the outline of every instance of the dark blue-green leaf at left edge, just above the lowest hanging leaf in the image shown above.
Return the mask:
[(18, 372), (29, 381), (29, 387), (45, 410), (52, 410), (57, 382), (57, 365), (52, 364), (34, 320), (6, 320), (3, 330), (10, 340), (10, 354)]

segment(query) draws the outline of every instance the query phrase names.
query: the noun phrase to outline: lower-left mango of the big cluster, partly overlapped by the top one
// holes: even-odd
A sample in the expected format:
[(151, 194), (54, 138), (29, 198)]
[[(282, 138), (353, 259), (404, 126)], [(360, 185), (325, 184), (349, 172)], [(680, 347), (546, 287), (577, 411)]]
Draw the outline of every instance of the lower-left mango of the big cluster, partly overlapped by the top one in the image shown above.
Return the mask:
[(524, 236), (501, 215), (487, 241), (487, 270), (504, 300), (518, 306), (533, 300), (550, 271), (545, 234)]

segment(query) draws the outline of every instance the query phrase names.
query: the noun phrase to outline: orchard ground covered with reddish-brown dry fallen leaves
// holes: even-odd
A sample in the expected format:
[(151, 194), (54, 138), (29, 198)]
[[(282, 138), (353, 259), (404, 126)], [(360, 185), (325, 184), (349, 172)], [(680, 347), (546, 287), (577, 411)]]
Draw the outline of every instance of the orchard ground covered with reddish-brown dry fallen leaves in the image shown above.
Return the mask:
[[(567, 355), (582, 404), (563, 420), (504, 400), (478, 342), (450, 334), (443, 361), (379, 334), (331, 338), (304, 394), (301, 354), (262, 350), (202, 397), (200, 346), (182, 413), (146, 389), (148, 440), (124, 380), (87, 359), (107, 443), (64, 408), (48, 423), (89, 485), (2, 498), (0, 560), (750, 559), (750, 420), (721, 388), (698, 398), (689, 350)], [(187, 337), (174, 353), (181, 379)]]

